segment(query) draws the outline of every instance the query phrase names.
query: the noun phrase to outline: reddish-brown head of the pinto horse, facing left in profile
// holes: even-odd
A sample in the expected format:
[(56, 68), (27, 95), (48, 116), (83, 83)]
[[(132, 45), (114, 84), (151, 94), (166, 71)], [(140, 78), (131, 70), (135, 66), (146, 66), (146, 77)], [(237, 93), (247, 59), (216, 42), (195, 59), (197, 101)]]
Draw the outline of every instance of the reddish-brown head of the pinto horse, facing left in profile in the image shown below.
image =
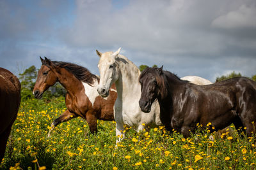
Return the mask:
[(36, 99), (41, 99), (45, 90), (49, 89), (49, 87), (58, 81), (58, 77), (56, 76), (56, 73), (54, 73), (57, 66), (46, 57), (45, 59), (40, 57), (40, 59), (42, 66), (38, 71), (38, 76), (33, 89), (33, 94)]

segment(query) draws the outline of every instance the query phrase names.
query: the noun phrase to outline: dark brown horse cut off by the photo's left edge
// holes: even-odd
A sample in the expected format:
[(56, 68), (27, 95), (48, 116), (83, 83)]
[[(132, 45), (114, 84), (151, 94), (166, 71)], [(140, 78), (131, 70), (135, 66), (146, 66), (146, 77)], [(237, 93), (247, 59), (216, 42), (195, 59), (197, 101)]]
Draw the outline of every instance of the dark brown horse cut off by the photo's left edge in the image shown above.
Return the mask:
[(0, 67), (0, 164), (20, 106), (20, 81)]

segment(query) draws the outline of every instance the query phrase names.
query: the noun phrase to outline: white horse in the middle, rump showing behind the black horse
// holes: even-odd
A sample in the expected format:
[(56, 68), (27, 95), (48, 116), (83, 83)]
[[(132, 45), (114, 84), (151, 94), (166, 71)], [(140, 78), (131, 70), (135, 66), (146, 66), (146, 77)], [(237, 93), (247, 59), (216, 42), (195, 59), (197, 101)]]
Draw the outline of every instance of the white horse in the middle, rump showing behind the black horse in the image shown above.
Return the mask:
[[(120, 55), (119, 48), (116, 52), (101, 53), (96, 50), (100, 57), (99, 72), (100, 83), (98, 92), (102, 97), (108, 97), (109, 89), (113, 83), (116, 85), (117, 99), (114, 106), (114, 117), (116, 120), (116, 139), (118, 143), (125, 138), (124, 125), (133, 127), (137, 132), (144, 128), (158, 127), (161, 123), (158, 101), (154, 101), (150, 113), (144, 113), (139, 106), (141, 85), (138, 81), (140, 69), (124, 55)], [(193, 80), (194, 78), (194, 80)], [(211, 81), (197, 76), (187, 76), (182, 80), (188, 80), (198, 85), (206, 85)]]

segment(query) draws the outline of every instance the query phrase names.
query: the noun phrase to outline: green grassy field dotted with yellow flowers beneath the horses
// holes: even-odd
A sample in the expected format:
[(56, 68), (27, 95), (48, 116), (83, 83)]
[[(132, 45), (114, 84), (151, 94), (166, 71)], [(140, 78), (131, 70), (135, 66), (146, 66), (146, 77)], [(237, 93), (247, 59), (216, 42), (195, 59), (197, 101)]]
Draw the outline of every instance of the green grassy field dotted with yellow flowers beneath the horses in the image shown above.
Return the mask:
[[(207, 130), (184, 139), (163, 127), (136, 133), (115, 147), (115, 122), (98, 121), (92, 135), (82, 118), (58, 125), (47, 138), (52, 121), (65, 111), (63, 98), (21, 103), (0, 169), (254, 169), (252, 138), (209, 140)], [(128, 131), (128, 128), (127, 130)]]

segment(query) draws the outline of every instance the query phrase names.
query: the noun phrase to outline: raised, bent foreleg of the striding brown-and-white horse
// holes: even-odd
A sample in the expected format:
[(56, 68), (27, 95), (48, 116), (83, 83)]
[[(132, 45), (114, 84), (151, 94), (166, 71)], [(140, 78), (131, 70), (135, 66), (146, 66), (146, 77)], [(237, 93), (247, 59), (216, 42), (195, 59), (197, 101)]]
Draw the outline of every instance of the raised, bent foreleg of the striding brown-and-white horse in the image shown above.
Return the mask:
[(71, 113), (69, 110), (66, 110), (60, 115), (60, 117), (56, 118), (53, 120), (51, 124), (51, 130), (48, 132), (48, 138), (51, 137), (51, 132), (54, 130), (54, 128), (62, 123), (62, 122), (67, 122), (68, 120), (77, 117), (74, 113)]

